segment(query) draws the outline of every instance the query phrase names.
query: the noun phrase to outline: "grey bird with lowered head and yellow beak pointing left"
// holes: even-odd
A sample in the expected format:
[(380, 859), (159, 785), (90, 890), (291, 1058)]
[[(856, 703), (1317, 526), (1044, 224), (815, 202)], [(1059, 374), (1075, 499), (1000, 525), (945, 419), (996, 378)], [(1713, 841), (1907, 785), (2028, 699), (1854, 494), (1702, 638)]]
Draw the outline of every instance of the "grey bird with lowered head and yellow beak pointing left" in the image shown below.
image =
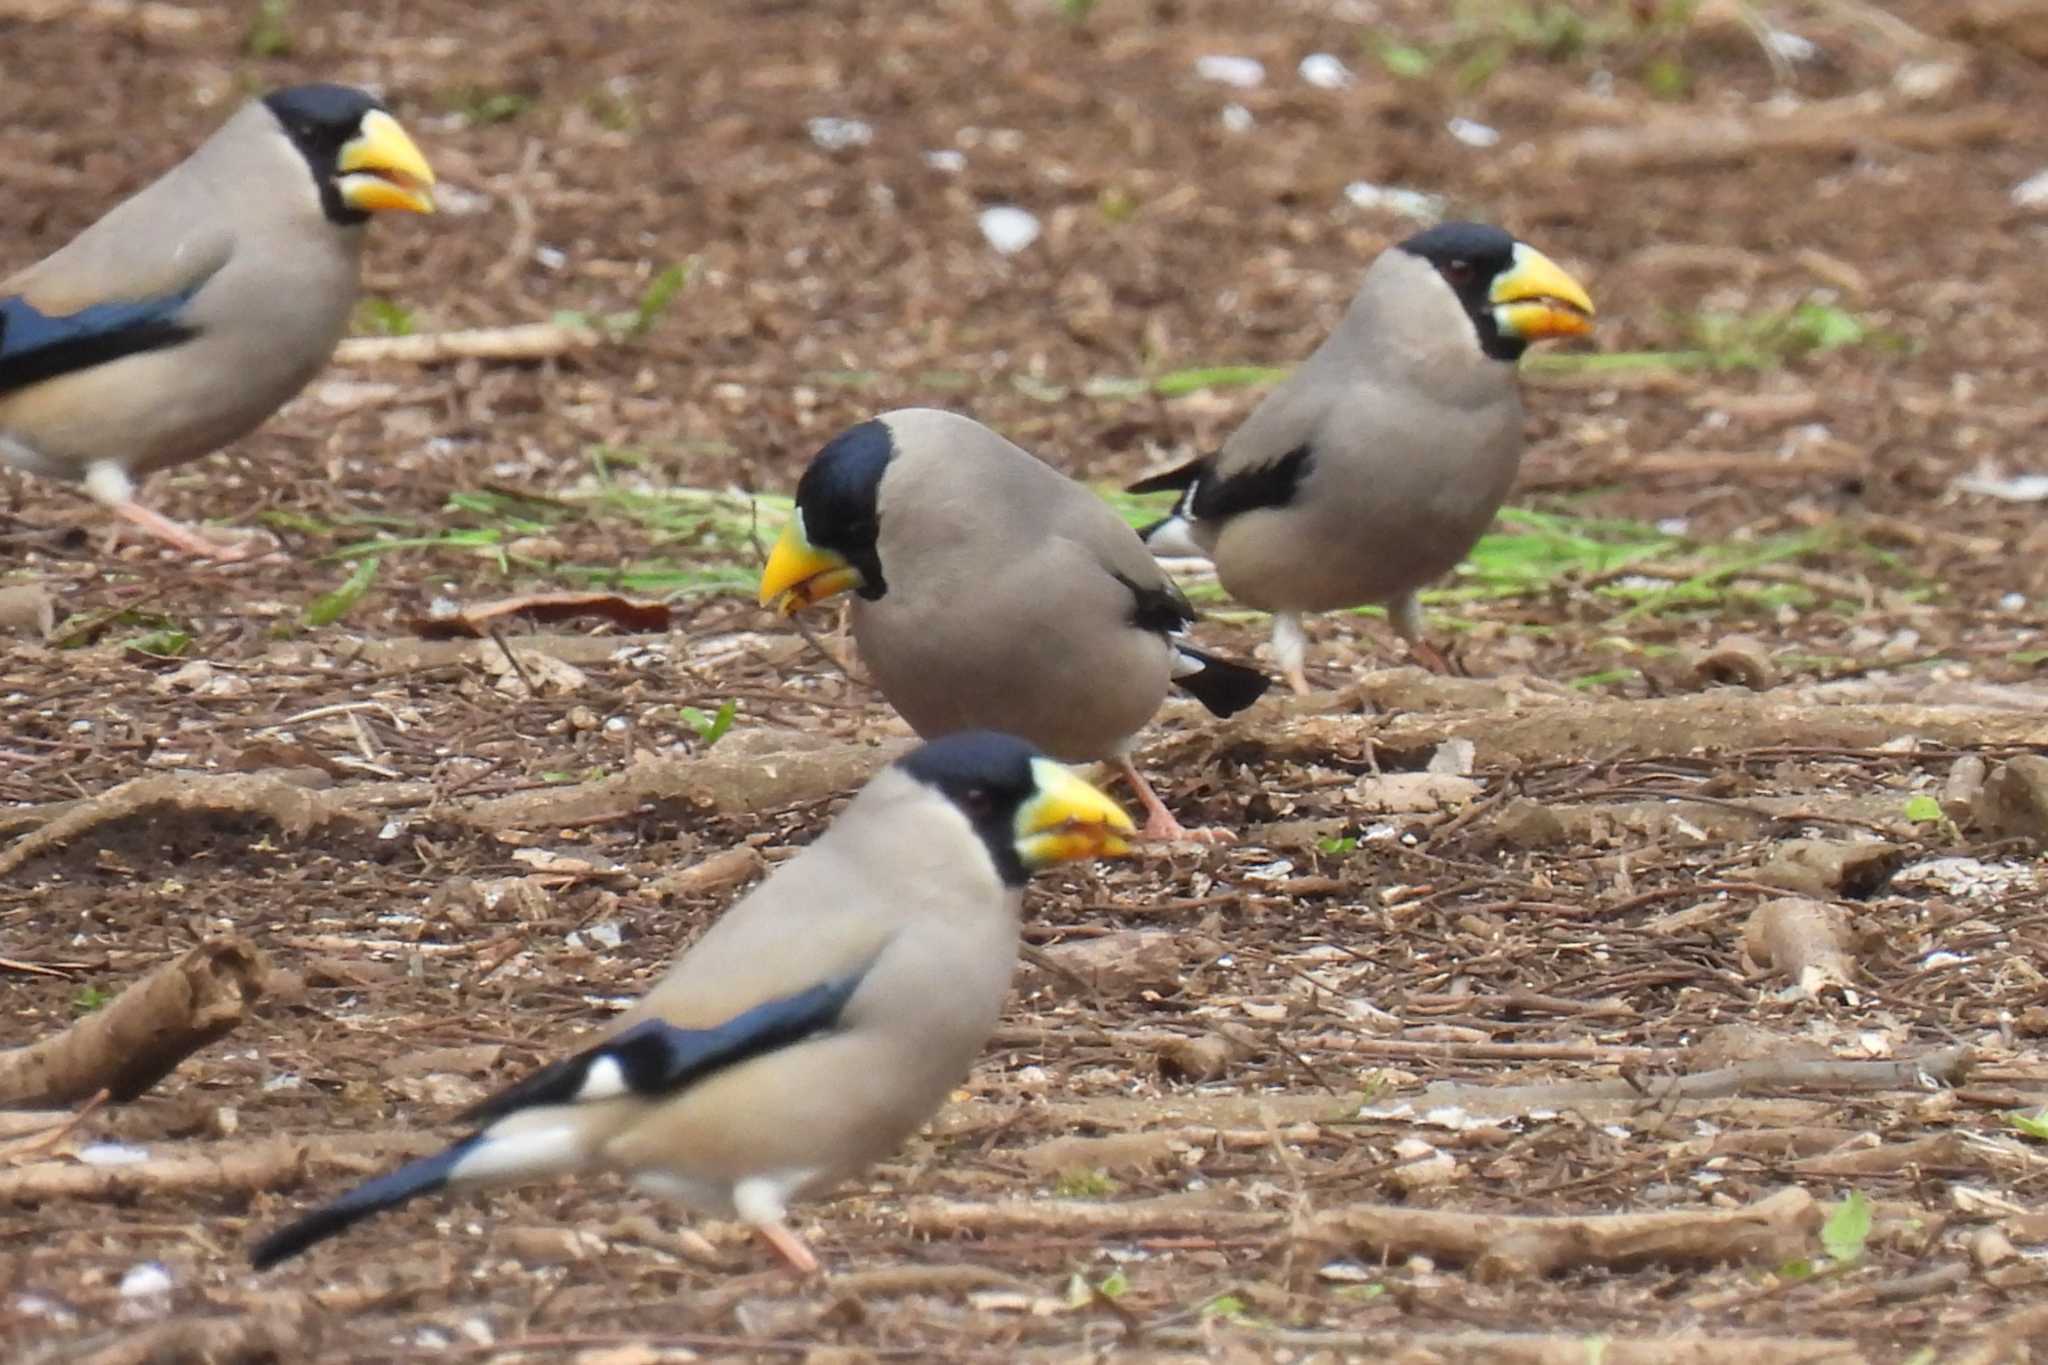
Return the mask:
[(1130, 759), (1167, 686), (1219, 716), (1270, 679), (1186, 641), (1194, 608), (1102, 497), (936, 407), (860, 422), (811, 458), (760, 579), (795, 614), (852, 591), (854, 643), (918, 735), (999, 729), (1067, 761), (1114, 759), (1145, 839), (1188, 829)]

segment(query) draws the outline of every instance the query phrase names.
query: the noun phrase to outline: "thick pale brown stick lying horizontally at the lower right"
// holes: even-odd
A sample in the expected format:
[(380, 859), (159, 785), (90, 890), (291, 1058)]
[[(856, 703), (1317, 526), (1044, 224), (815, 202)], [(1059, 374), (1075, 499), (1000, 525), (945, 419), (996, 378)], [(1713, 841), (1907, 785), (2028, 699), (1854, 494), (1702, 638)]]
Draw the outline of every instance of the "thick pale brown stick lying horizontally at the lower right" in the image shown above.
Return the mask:
[(1470, 1265), (1483, 1281), (1507, 1281), (1577, 1267), (1776, 1265), (1810, 1250), (1821, 1222), (1812, 1195), (1780, 1189), (1741, 1209), (1663, 1214), (1458, 1214), (1354, 1203), (1307, 1218), (1294, 1238), (1313, 1254), (1368, 1263), (1423, 1254)]

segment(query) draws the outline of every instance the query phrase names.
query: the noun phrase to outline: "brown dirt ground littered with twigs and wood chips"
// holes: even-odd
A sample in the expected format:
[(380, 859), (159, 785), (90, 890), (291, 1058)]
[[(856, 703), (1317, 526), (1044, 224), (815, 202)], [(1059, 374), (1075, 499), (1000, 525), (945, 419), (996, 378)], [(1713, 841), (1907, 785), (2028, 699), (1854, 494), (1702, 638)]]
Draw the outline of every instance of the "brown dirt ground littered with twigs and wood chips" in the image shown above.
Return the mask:
[[(2048, 530), (1958, 487), (2048, 430), (2048, 217), (2013, 194), (2048, 14), (1083, 10), (0, 0), (0, 272), (311, 78), (383, 88), (449, 188), (373, 225), (365, 332), (606, 319), (692, 262), (639, 334), (336, 366), (156, 481), (279, 540), (248, 563), (106, 553), (82, 495), (0, 475), (0, 587), (63, 622), (0, 639), (0, 1042), (207, 937), (270, 964), (139, 1101), (0, 1134), (6, 1355), (2048, 1355), (2048, 1148), (2011, 1119), (2048, 1101)], [(1532, 366), (1503, 540), (1563, 557), (1434, 604), (1468, 677), (1343, 616), (1307, 704), (1169, 706), (1143, 761), (1243, 841), (1040, 880), (965, 1095), (801, 1209), (823, 1279), (602, 1179), (246, 1269), (602, 1023), (899, 743), (690, 510), (737, 499), (666, 489), (786, 493), (905, 403), (1104, 483), (1212, 448), (1257, 387), (1133, 381), (1307, 354), (1413, 229), (1354, 184), (1540, 246), (1602, 354), (1718, 360)], [(997, 254), (995, 205), (1038, 241)], [(1669, 540), (1565, 553), (1616, 526)], [(436, 600), (608, 583), (674, 589), (670, 628), (418, 639)], [(170, 782), (94, 804), (135, 778)]]

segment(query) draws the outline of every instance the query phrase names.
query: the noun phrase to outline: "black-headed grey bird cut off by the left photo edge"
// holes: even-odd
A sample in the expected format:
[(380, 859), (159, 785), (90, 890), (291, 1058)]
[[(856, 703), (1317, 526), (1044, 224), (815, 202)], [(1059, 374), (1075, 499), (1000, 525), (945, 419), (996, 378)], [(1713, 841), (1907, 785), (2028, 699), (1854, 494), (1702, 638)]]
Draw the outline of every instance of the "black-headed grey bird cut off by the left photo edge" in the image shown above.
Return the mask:
[(0, 278), (0, 465), (82, 483), (197, 557), (236, 559), (135, 481), (238, 440), (334, 354), (373, 213), (432, 213), (434, 172), (352, 86), (244, 104), (193, 156)]

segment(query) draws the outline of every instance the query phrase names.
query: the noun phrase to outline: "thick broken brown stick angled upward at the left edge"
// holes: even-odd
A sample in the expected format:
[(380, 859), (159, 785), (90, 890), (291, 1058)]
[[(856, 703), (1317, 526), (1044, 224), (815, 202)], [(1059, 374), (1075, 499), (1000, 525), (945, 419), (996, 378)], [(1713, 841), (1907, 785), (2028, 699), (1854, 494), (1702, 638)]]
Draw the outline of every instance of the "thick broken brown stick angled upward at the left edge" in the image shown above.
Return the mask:
[(135, 1099), (242, 1023), (268, 970), (248, 939), (207, 939), (61, 1033), (0, 1054), (0, 1103), (66, 1105), (98, 1091)]

